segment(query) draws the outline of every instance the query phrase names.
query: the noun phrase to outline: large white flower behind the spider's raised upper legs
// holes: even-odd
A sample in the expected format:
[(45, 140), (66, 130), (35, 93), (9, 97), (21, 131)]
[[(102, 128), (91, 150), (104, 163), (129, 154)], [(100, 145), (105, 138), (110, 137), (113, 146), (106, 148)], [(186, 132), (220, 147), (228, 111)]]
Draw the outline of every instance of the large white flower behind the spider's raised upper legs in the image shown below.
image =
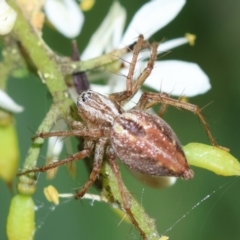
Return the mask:
[[(93, 34), (81, 58), (90, 59), (114, 48), (127, 46), (136, 41), (139, 33), (142, 33), (144, 38), (148, 39), (153, 33), (171, 22), (181, 11), (184, 4), (185, 0), (149, 1), (136, 12), (123, 34), (126, 12), (119, 2), (114, 2), (103, 23)], [(188, 42), (188, 37), (170, 40), (160, 44), (158, 52), (165, 52)], [(147, 61), (142, 59), (148, 58), (149, 54), (146, 51), (139, 54), (135, 78), (146, 67)], [(125, 56), (124, 60), (124, 62), (130, 62), (131, 54)], [(127, 73), (128, 68), (125, 68), (119, 75), (126, 76)], [(110, 79), (110, 83), (110, 87), (92, 85), (92, 88), (106, 94), (125, 89), (125, 81), (122, 77), (114, 75)], [(207, 75), (197, 64), (178, 60), (156, 61), (145, 85), (156, 91), (187, 97), (203, 94), (211, 88)], [(141, 92), (139, 91), (137, 95), (137, 98), (139, 98)], [(137, 99), (134, 99), (134, 101), (137, 102)]]

